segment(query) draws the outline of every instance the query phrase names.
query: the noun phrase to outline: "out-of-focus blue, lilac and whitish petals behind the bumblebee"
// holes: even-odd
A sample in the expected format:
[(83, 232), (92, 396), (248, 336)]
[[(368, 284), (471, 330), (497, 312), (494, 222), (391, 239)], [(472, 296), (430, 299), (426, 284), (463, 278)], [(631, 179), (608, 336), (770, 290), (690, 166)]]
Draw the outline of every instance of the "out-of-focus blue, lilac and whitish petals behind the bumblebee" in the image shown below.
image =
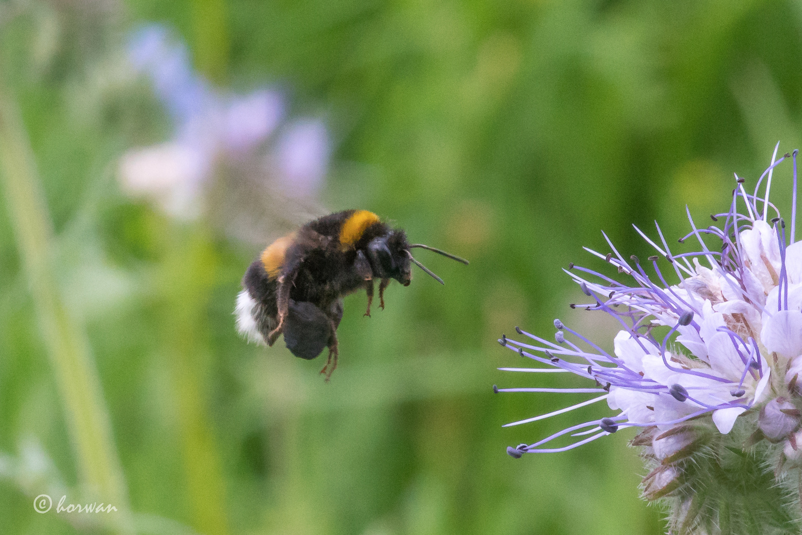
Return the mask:
[(265, 160), (269, 154), (258, 181), (275, 180), (271, 190), (293, 199), (316, 195), (330, 152), (322, 121), (296, 120), (271, 143), (285, 116), (282, 95), (267, 89), (248, 95), (215, 91), (192, 70), (187, 48), (164, 26), (137, 30), (128, 55), (135, 70), (151, 79), (175, 128), (168, 143), (123, 156), (121, 181), (129, 194), (153, 197), (176, 217), (196, 217), (216, 164)]

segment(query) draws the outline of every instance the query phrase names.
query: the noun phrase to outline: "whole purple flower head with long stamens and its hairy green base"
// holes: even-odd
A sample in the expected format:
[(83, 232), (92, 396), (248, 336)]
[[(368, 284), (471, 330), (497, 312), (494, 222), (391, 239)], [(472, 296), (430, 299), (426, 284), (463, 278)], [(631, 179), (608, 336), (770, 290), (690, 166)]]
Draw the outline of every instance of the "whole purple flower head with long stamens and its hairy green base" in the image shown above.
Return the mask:
[[(641, 448), (650, 470), (642, 481), (643, 496), (666, 505), (671, 533), (800, 533), (797, 154), (777, 159), (775, 148), (753, 193), (736, 175), (729, 209), (711, 216), (717, 225), (699, 228), (687, 211), (691, 233), (679, 241), (698, 242), (694, 252), (672, 253), (656, 223), (655, 240), (635, 227), (656, 252), (646, 262), (623, 257), (606, 234), (610, 253), (585, 248), (626, 276), (618, 281), (573, 264), (565, 270), (589, 298), (572, 308), (602, 311), (621, 325), (613, 354), (558, 319), (554, 341), (516, 327), (529, 339), (503, 335), (500, 344), (542, 366), (501, 370), (569, 372), (589, 384), (493, 388), (596, 394), (507, 426), (602, 401), (614, 412), (507, 448), (510, 456), (565, 452), (638, 428), (630, 444)], [(768, 199), (773, 170), (784, 160), (793, 164), (789, 221)], [(666, 282), (666, 272), (675, 276), (674, 284)]]

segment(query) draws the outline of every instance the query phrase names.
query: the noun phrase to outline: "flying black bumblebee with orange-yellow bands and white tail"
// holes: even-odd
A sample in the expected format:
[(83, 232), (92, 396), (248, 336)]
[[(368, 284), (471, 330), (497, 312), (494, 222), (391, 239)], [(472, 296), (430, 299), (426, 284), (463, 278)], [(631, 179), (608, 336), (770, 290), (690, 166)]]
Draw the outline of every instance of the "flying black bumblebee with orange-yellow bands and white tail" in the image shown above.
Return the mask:
[(364, 289), (364, 315), (370, 316), (375, 280), (379, 279), (383, 309), (384, 290), (392, 279), (409, 286), (413, 263), (444, 284), (412, 257), (410, 249), (415, 248), (468, 264), (428, 245), (410, 244), (403, 229), (391, 229), (367, 210), (345, 210), (310, 221), (273, 241), (249, 266), (234, 310), (237, 330), (267, 346), (284, 334), (287, 348), (301, 359), (314, 359), (328, 347), (320, 373), (329, 380), (337, 367), (344, 296)]

